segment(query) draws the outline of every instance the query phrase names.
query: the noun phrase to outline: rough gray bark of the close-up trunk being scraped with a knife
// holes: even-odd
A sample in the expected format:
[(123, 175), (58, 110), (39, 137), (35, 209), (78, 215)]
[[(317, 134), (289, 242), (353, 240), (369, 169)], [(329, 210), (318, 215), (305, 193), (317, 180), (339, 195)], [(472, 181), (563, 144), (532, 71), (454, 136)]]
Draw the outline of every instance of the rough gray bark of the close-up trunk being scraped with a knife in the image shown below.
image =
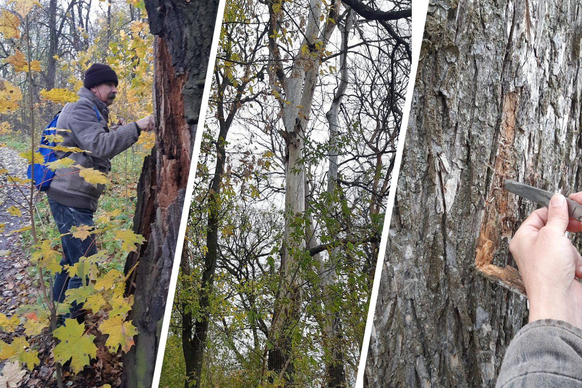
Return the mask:
[(508, 241), (535, 208), (502, 182), (582, 189), (580, 5), (430, 3), (367, 386), (494, 386), (527, 322)]

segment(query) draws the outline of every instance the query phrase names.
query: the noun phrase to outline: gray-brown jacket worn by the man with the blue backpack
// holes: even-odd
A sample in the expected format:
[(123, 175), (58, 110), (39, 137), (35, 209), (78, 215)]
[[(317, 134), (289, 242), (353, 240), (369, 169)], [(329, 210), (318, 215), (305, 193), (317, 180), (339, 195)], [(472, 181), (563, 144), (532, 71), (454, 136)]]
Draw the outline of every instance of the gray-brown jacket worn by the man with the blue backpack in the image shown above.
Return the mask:
[[(69, 102), (63, 108), (56, 122), (58, 131), (64, 141), (60, 145), (77, 147), (83, 151), (66, 155), (66, 152), (56, 151), (57, 158), (67, 156), (73, 159), (74, 164), (86, 168), (93, 168), (104, 173), (111, 169), (111, 159), (131, 147), (137, 141), (140, 130), (136, 123), (129, 123), (109, 131), (107, 126), (109, 109), (93, 92), (80, 88), (79, 100)], [(100, 112), (97, 120), (94, 106)], [(87, 183), (79, 176), (79, 169), (63, 168), (55, 171), (55, 177), (47, 190), (48, 197), (65, 206), (97, 210), (97, 201), (105, 186)]]

